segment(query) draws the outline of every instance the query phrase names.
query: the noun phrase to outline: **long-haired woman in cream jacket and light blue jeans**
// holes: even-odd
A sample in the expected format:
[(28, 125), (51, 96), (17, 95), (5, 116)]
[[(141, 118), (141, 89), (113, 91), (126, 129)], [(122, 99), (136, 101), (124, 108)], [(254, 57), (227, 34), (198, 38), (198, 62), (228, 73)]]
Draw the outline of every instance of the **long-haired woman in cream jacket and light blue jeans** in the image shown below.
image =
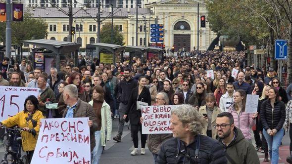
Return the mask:
[(89, 102), (93, 106), (93, 110), (97, 116), (97, 131), (96, 136), (96, 147), (93, 150), (92, 164), (99, 164), (99, 159), (102, 153), (102, 147), (105, 146), (105, 141), (110, 140), (111, 137), (111, 113), (110, 106), (104, 101), (103, 87), (97, 85), (92, 89), (92, 98)]

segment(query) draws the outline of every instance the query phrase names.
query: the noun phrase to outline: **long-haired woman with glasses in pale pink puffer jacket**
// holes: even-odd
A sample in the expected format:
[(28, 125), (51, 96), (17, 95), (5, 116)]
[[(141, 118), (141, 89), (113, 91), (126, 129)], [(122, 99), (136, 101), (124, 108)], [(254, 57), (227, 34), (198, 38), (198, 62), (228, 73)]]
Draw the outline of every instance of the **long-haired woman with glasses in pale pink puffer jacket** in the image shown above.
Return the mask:
[(244, 90), (237, 90), (233, 98), (234, 104), (229, 107), (228, 112), (232, 114), (235, 126), (242, 130), (245, 139), (251, 141), (250, 128), (255, 125), (257, 112), (254, 114), (245, 112), (246, 96)]

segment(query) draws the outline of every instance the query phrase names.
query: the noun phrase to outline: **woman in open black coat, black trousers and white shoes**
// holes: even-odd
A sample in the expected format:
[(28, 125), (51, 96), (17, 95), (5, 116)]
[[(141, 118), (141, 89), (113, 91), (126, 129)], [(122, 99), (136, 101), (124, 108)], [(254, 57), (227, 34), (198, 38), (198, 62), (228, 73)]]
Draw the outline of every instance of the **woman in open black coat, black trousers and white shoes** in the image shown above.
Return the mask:
[(140, 123), (140, 118), (142, 117), (141, 110), (137, 110), (137, 101), (146, 102), (148, 105), (151, 104), (151, 96), (149, 89), (146, 85), (146, 78), (140, 77), (138, 80), (138, 87), (134, 88), (131, 92), (131, 96), (128, 102), (127, 111), (125, 112), (124, 119), (129, 116), (131, 124), (131, 134), (133, 137), (134, 150), (131, 155), (138, 154), (138, 130), (141, 129), (141, 154), (145, 154), (145, 145), (147, 134), (142, 134), (142, 124)]

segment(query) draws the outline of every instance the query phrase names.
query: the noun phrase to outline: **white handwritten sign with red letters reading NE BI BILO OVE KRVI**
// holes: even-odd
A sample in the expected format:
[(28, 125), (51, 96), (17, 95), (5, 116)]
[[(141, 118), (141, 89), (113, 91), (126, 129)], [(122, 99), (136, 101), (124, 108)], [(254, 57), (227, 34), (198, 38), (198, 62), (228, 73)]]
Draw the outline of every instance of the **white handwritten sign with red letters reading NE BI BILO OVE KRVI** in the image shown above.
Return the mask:
[(172, 133), (170, 125), (170, 111), (175, 106), (143, 106), (142, 134)]

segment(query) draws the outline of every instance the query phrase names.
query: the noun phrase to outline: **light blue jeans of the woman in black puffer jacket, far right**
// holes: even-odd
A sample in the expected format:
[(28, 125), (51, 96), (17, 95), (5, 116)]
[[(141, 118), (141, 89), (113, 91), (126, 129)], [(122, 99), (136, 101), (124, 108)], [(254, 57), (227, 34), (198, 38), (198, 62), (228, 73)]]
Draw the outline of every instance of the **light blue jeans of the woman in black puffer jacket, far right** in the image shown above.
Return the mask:
[(282, 138), (284, 136), (284, 129), (279, 130), (276, 135), (270, 136), (265, 129), (263, 129), (263, 134), (267, 140), (269, 147), (269, 154), (271, 157), (271, 164), (278, 164), (279, 160), (279, 146), (281, 144)]

